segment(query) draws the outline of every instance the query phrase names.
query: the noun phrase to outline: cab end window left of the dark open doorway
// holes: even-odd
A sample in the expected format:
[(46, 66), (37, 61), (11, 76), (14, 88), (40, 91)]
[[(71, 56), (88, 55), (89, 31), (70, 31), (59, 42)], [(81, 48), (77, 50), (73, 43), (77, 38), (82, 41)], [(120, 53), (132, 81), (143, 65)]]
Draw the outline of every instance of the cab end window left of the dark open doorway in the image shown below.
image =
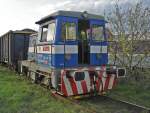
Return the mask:
[(62, 40), (76, 40), (76, 24), (73, 22), (62, 23)]

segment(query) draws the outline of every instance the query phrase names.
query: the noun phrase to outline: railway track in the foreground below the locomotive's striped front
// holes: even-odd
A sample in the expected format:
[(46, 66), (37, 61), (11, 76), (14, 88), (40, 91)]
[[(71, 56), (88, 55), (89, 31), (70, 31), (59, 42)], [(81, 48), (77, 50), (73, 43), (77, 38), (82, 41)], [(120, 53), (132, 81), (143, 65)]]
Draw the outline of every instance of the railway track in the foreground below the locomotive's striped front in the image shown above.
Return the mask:
[[(62, 101), (69, 101), (71, 104), (84, 109), (86, 113), (150, 113), (149, 108), (108, 96), (95, 96), (80, 99), (66, 99), (55, 93), (53, 93), (53, 96)], [(103, 106), (101, 106), (102, 104)], [(107, 104), (109, 105), (107, 106)]]

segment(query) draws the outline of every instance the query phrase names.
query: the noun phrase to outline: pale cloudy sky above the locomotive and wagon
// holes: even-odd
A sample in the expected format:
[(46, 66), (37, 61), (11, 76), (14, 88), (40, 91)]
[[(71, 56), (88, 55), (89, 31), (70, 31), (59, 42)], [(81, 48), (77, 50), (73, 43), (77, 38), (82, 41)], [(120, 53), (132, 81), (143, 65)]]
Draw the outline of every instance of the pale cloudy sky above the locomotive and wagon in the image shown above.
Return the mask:
[[(135, 3), (138, 0), (121, 0)], [(150, 0), (145, 0), (150, 3)], [(35, 21), (56, 10), (103, 13), (110, 10), (113, 0), (0, 0), (0, 35), (9, 30), (38, 29)], [(150, 5), (150, 4), (149, 4)]]

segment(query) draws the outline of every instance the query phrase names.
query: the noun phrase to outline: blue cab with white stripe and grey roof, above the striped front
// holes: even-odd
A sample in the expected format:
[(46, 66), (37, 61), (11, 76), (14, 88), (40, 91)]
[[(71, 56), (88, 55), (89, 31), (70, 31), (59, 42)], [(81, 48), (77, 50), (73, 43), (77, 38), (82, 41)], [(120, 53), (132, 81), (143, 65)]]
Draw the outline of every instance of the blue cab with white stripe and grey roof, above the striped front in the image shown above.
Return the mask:
[[(102, 16), (87, 12), (59, 11), (41, 19), (37, 22), (40, 25), (37, 53), (51, 48), (51, 56), (37, 54), (37, 62), (56, 68), (107, 64), (105, 23)], [(40, 45), (45, 45), (41, 47), (43, 51)]]

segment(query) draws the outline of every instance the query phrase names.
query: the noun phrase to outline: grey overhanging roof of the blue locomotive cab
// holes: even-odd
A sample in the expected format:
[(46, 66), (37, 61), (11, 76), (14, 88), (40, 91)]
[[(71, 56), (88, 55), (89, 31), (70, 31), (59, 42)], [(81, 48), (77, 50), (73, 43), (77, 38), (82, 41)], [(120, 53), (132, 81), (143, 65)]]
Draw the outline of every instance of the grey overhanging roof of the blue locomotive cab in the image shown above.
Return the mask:
[[(54, 19), (56, 16), (66, 16), (66, 17), (76, 17), (76, 18), (83, 18), (83, 13), (84, 12), (77, 12), (77, 11), (57, 11), (54, 12), (44, 18), (41, 18), (41, 20), (37, 21), (36, 24), (42, 24), (46, 21), (49, 21), (51, 19)], [(97, 19), (97, 20), (104, 20), (104, 17), (101, 15), (96, 15), (96, 14), (88, 14), (88, 19)]]

